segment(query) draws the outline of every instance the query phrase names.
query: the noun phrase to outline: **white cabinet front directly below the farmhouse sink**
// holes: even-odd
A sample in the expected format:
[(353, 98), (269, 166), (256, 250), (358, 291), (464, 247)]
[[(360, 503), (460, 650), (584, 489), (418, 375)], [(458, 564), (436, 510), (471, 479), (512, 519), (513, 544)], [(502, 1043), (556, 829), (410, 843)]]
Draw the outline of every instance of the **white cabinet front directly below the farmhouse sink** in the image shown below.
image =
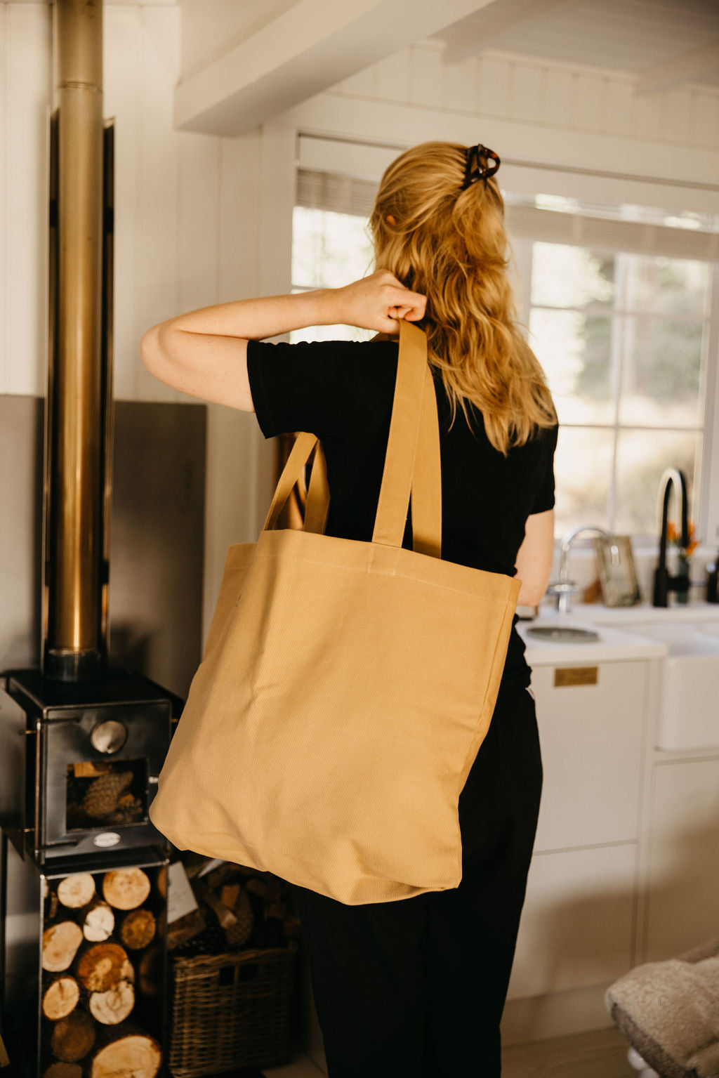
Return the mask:
[(719, 758), (654, 764), (645, 962), (719, 937)]

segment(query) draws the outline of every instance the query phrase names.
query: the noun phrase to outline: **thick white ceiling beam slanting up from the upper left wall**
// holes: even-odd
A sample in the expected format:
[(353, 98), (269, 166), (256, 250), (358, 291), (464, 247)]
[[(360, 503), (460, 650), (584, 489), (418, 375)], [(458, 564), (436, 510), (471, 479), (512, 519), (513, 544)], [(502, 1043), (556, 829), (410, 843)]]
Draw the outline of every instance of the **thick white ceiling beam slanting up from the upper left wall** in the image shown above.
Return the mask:
[(175, 91), (175, 126), (241, 135), (492, 0), (298, 0)]

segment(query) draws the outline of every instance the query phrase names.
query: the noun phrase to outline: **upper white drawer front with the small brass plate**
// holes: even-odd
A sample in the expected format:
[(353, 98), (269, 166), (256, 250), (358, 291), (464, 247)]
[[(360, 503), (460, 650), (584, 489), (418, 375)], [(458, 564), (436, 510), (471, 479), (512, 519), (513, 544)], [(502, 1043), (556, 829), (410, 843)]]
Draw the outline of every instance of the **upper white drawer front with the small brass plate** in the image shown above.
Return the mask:
[(556, 672), (531, 676), (544, 772), (535, 852), (636, 841), (647, 663), (602, 663), (596, 685), (555, 687)]

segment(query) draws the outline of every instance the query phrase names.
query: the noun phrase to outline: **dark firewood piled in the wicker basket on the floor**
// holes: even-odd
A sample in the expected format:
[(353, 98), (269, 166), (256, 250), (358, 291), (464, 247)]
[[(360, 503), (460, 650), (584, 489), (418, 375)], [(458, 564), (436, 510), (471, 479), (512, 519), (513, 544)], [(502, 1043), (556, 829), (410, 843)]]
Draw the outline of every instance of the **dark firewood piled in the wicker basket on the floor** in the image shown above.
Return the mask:
[(300, 937), (285, 880), (197, 854), (184, 854), (182, 865), (197, 908), (168, 925), (167, 945), (177, 956), (282, 948)]

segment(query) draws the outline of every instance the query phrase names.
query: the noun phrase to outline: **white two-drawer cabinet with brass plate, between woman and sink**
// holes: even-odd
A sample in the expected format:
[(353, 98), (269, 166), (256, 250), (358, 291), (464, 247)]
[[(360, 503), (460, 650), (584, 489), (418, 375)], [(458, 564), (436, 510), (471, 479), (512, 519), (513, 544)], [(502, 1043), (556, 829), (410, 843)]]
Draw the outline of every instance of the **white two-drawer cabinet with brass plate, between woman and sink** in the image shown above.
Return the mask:
[(531, 685), (542, 800), (508, 1000), (599, 997), (634, 957), (648, 663), (537, 665)]

